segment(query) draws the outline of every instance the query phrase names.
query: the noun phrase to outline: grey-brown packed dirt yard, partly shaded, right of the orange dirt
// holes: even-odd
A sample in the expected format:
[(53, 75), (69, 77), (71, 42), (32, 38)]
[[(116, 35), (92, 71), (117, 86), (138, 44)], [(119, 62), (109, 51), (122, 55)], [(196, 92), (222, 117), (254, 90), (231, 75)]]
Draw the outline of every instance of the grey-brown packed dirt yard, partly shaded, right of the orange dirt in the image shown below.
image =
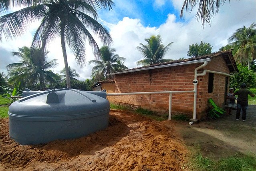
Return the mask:
[(204, 156), (219, 159), (248, 152), (256, 153), (255, 111), (256, 105), (249, 105), (246, 122), (236, 120), (235, 110), (230, 116), (221, 115), (219, 119), (204, 120), (193, 125), (188, 122), (171, 122), (176, 123), (174, 129), (188, 148), (200, 148)]

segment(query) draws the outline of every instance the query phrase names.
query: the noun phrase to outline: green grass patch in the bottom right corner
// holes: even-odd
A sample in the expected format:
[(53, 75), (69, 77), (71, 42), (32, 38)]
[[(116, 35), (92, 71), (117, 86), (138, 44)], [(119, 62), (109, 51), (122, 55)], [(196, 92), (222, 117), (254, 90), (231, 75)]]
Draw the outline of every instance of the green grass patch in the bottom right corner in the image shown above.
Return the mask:
[(189, 169), (196, 171), (255, 171), (256, 155), (248, 153), (248, 155), (236, 155), (221, 158), (214, 161), (208, 157), (203, 157), (196, 149), (196, 153), (189, 161)]

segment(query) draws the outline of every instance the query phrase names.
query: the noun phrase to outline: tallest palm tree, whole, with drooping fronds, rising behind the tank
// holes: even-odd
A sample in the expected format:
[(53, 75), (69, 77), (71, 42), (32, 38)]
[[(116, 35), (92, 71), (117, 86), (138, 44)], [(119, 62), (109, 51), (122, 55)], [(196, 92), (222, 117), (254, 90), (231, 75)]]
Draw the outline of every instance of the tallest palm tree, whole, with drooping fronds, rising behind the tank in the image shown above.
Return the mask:
[(67, 87), (70, 88), (66, 45), (75, 54), (75, 60), (81, 67), (85, 65), (84, 40), (93, 48), (95, 58), (99, 57), (99, 47), (88, 29), (99, 36), (103, 44), (110, 44), (110, 34), (97, 22), (95, 9), (111, 10), (114, 3), (112, 0), (38, 0), (33, 6), (30, 5), (28, 3), (28, 7), (0, 18), (0, 40), (3, 35), (6, 39), (20, 36), (31, 22), (40, 20), (31, 48), (40, 47), (44, 50), (51, 40), (60, 37)]

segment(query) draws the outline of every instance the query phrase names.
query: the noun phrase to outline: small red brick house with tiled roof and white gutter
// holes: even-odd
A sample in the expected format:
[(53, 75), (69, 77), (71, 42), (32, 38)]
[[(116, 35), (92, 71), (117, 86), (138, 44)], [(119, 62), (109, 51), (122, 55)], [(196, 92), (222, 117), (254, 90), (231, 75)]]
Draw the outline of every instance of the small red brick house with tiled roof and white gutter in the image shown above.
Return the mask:
[[(230, 74), (237, 71), (232, 52), (228, 50), (109, 74), (115, 76), (111, 82), (113, 87), (105, 89), (107, 93), (113, 89), (115, 93), (194, 90), (196, 93), (173, 93), (171, 107), (173, 111), (201, 119), (208, 111), (209, 98), (219, 106), (226, 103)], [(109, 97), (113, 103), (155, 111), (168, 111), (169, 107), (169, 94)]]

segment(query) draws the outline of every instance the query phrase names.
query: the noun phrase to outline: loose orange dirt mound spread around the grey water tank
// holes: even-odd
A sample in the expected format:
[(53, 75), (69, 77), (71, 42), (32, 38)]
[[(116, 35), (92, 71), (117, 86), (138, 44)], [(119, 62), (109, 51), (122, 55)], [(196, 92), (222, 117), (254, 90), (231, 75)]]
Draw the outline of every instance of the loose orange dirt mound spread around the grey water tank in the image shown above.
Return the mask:
[[(165, 121), (166, 122), (166, 121)], [(0, 119), (0, 170), (183, 170), (187, 149), (165, 123), (111, 110), (109, 127), (79, 139), (20, 145)]]

